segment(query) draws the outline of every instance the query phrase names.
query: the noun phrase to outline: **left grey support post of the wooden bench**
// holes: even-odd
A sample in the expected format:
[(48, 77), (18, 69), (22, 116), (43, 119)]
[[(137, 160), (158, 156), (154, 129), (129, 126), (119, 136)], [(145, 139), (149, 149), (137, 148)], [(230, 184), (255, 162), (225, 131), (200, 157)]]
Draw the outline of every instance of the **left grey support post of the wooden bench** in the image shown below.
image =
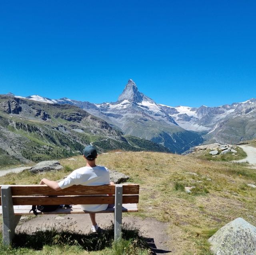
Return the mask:
[(1, 197), (3, 212), (3, 243), (4, 245), (10, 245), (14, 238), (15, 227), (17, 226), (21, 215), (14, 215), (10, 186), (2, 186)]

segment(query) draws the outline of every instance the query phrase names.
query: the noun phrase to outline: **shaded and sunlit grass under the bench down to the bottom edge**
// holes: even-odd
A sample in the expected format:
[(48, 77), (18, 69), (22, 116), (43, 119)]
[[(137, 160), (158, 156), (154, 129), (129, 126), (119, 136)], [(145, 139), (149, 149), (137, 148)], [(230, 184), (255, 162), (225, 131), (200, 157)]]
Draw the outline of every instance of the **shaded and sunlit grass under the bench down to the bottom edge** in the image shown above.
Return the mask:
[(122, 239), (116, 243), (113, 224), (97, 234), (83, 234), (67, 225), (37, 229), (33, 233), (28, 229), (16, 233), (12, 247), (6, 247), (1, 242), (0, 254), (150, 254), (149, 247), (138, 229), (131, 225), (123, 225), (122, 229)]

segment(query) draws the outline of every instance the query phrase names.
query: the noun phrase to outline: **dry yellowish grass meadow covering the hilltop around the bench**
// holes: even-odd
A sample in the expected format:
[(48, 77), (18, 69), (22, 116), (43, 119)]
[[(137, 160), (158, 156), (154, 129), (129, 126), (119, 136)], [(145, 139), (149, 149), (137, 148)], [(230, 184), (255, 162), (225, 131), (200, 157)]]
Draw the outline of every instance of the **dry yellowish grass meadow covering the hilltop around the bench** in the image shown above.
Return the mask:
[[(45, 173), (44, 176), (28, 172), (9, 174), (1, 177), (0, 183), (39, 183), (42, 177), (58, 180), (72, 169), (84, 166), (82, 156), (76, 159), (60, 160), (65, 166), (61, 172)], [(154, 152), (101, 154), (97, 164), (127, 174), (132, 182), (140, 184), (139, 212), (136, 214), (168, 224), (168, 245), (173, 254), (211, 254), (208, 237), (237, 217), (256, 225), (256, 189), (247, 186), (255, 184), (256, 172), (246, 168), (246, 164)], [(182, 186), (196, 188), (187, 194), (177, 188)]]

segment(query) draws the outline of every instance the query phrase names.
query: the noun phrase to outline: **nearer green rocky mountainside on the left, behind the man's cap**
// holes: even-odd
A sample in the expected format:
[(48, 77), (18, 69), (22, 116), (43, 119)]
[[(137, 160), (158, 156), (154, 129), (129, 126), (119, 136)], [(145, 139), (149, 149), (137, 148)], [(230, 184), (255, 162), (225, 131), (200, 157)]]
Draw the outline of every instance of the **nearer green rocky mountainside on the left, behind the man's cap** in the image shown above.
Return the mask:
[(1, 166), (76, 155), (88, 144), (96, 146), (99, 152), (169, 152), (148, 140), (126, 138), (122, 131), (79, 107), (52, 103), (42, 97), (0, 95), (0, 130)]

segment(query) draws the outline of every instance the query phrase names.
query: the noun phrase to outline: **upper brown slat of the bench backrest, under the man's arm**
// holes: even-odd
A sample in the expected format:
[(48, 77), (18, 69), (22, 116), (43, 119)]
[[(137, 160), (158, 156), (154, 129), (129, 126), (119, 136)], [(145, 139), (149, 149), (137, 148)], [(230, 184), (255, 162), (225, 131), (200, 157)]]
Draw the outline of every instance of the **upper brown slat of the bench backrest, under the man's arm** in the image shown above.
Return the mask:
[[(0, 185), (0, 188), (3, 185)], [(115, 185), (83, 186), (74, 185), (54, 191), (46, 185), (8, 185), (12, 196), (65, 196), (65, 195), (103, 195), (115, 194)], [(123, 184), (123, 194), (139, 194), (139, 184)]]

